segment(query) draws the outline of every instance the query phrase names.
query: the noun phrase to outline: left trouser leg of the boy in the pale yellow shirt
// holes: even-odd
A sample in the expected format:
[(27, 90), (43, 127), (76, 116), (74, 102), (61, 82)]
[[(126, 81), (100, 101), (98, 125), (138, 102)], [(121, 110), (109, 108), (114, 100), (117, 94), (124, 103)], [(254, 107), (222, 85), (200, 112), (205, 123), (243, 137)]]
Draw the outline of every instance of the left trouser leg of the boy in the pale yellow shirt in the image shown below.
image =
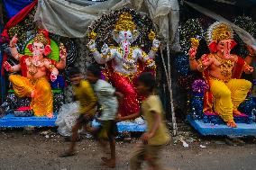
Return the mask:
[(130, 158), (130, 169), (131, 170), (140, 170), (142, 169), (142, 162), (144, 160), (145, 155), (145, 145), (141, 144), (136, 147), (132, 153), (132, 157)]

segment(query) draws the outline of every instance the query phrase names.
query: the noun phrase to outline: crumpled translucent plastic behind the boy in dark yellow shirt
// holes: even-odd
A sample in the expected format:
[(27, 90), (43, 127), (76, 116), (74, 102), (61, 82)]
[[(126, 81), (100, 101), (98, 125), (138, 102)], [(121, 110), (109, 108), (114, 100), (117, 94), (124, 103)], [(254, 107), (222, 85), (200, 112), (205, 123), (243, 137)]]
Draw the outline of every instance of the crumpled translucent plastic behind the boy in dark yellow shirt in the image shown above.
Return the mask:
[(55, 124), (59, 126), (58, 132), (62, 136), (71, 136), (71, 130), (75, 124), (79, 113), (79, 103), (63, 104), (59, 109), (59, 115)]

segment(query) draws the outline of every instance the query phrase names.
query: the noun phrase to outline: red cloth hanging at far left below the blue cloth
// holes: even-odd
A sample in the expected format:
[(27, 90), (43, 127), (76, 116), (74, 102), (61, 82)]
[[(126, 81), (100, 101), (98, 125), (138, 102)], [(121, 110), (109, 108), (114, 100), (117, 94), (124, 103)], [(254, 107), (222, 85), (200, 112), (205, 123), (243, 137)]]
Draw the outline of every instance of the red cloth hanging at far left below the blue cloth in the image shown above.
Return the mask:
[[(5, 29), (2, 32), (2, 36), (6, 37), (9, 39), (9, 35), (8, 35), (8, 30), (12, 27), (14, 27), (16, 24), (18, 24), (19, 22), (22, 22), (23, 19), (27, 16), (28, 13), (30, 13), (32, 11), (32, 9), (34, 8), (34, 6), (37, 4), (38, 0), (35, 0), (34, 2), (32, 2), (32, 4), (27, 5), (26, 7), (23, 8), (22, 11), (20, 11), (19, 13), (15, 14), (13, 18), (11, 18), (9, 20), (9, 22), (7, 22), (5, 24)], [(3, 58), (3, 63), (7, 60), (8, 55), (4, 53), (4, 58)], [(4, 67), (3, 67), (3, 63), (2, 64), (2, 75), (4, 76), (5, 71), (4, 71)]]

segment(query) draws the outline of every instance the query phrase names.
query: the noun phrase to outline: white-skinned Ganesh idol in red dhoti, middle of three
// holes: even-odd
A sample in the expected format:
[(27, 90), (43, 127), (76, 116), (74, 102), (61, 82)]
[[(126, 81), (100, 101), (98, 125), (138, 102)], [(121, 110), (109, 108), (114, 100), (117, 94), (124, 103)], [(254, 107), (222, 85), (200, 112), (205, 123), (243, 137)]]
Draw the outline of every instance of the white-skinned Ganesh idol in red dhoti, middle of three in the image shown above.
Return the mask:
[[(96, 32), (94, 32), (96, 33)], [(104, 44), (101, 52), (96, 49), (95, 40), (90, 40), (88, 48), (98, 64), (108, 67), (104, 75), (116, 91), (123, 94), (119, 113), (121, 116), (130, 115), (139, 111), (139, 97), (134, 87), (136, 78), (145, 70), (154, 72), (154, 58), (160, 46), (160, 41), (155, 39), (154, 32), (149, 33), (152, 47), (148, 54), (140, 47), (133, 46), (133, 41), (139, 37), (133, 16), (130, 13), (121, 13), (112, 31), (113, 39), (118, 46), (109, 47)], [(142, 64), (141, 64), (142, 63)]]

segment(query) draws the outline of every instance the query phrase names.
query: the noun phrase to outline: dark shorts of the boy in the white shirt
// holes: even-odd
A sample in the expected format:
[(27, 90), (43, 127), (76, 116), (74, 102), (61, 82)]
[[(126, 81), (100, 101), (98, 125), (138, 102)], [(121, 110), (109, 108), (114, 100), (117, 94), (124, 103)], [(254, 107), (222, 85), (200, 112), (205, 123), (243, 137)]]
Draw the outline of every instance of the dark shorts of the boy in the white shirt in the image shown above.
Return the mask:
[(118, 133), (116, 122), (114, 120), (100, 121), (101, 125), (96, 130), (96, 139), (110, 140)]

